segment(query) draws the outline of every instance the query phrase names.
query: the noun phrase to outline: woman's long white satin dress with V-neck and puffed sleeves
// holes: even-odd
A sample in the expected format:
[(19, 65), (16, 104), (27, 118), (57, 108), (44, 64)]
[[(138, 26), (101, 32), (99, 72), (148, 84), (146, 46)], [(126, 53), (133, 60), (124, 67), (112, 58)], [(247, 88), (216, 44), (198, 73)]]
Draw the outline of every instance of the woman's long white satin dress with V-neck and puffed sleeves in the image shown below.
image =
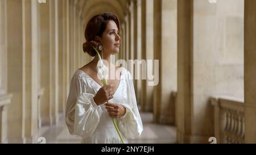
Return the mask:
[[(65, 121), (71, 135), (82, 137), (81, 143), (122, 143), (104, 104), (97, 106), (93, 97), (101, 86), (88, 74), (78, 69), (71, 80)], [(110, 103), (122, 104), (126, 113), (116, 119), (119, 130), (127, 139), (135, 139), (143, 131), (141, 116), (134, 93), (130, 72), (121, 68), (121, 78)]]

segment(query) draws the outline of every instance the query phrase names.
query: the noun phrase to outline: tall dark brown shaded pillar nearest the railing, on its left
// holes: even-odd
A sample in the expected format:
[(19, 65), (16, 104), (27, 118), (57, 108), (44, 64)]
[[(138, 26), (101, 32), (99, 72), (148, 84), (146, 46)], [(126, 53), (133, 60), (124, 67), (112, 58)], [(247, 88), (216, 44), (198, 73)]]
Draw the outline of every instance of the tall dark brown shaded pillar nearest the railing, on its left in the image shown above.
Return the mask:
[(177, 1), (177, 143), (191, 135), (191, 54), (193, 1)]

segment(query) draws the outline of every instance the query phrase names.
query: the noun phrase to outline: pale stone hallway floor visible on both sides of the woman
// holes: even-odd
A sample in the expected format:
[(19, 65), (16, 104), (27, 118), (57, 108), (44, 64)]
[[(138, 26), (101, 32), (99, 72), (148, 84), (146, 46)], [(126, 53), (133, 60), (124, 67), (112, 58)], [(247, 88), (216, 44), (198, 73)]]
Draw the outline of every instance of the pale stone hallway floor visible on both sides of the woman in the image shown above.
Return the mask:
[[(176, 127), (152, 123), (152, 114), (141, 112), (144, 130), (142, 135), (129, 143), (176, 143)], [(65, 126), (64, 117), (52, 127), (43, 127), (40, 131), (46, 143), (80, 143), (79, 136), (71, 136)]]

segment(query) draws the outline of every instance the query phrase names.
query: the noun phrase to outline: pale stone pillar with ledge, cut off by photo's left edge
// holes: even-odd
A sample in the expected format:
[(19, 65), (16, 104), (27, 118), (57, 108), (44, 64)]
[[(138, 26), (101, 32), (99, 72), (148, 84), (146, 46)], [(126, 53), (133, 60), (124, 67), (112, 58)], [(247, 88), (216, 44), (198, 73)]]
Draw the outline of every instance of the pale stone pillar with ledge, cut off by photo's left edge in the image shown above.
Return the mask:
[(0, 1), (0, 143), (7, 143), (7, 106), (12, 95), (7, 92), (6, 0)]

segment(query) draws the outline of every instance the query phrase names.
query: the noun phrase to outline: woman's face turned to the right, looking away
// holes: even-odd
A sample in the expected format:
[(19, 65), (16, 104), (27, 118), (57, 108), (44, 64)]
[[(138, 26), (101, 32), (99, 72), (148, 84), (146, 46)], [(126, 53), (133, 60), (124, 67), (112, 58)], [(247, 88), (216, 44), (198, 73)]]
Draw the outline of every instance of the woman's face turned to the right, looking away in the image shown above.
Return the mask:
[(119, 52), (121, 37), (118, 34), (117, 24), (113, 20), (109, 20), (106, 30), (103, 32), (102, 37), (100, 37), (100, 42), (103, 45), (103, 51), (105, 53), (113, 55)]

